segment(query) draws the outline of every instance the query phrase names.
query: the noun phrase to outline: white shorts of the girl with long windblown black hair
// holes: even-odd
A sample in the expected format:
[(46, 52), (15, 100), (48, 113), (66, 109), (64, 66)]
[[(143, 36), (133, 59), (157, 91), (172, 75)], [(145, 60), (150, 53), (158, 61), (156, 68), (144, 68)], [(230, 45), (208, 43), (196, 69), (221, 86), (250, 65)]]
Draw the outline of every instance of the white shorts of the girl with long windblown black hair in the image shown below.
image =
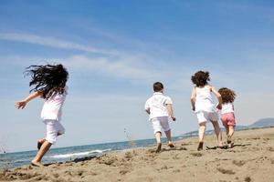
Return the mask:
[(45, 119), (44, 123), (47, 126), (47, 142), (49, 142), (50, 144), (55, 144), (57, 136), (65, 133), (65, 128), (58, 120)]

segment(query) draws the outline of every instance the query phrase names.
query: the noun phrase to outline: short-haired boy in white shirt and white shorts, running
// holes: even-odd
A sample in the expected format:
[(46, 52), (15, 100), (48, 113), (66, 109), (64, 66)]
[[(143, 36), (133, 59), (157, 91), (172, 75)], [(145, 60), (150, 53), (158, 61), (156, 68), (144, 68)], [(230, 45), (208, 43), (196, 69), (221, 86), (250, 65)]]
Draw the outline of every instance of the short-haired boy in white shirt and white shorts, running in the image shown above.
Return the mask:
[(153, 125), (154, 135), (157, 142), (156, 152), (160, 152), (162, 148), (161, 136), (162, 129), (167, 137), (168, 147), (174, 147), (171, 138), (171, 129), (168, 124), (168, 117), (175, 121), (173, 110), (173, 101), (169, 96), (163, 96), (163, 84), (156, 82), (153, 84), (153, 96), (145, 103), (144, 109), (149, 114), (150, 121)]

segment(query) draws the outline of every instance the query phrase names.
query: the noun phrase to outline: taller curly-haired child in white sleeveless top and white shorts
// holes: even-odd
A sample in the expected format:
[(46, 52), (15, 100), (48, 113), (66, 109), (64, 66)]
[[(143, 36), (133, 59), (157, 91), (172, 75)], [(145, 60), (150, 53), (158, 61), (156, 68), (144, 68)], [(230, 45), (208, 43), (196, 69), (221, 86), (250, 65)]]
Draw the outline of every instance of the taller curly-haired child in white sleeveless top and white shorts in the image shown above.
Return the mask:
[(211, 121), (213, 124), (219, 143), (218, 145), (219, 147), (223, 147), (222, 134), (218, 124), (218, 116), (214, 106), (212, 93), (218, 99), (219, 103), (216, 106), (218, 109), (222, 108), (222, 97), (213, 86), (208, 85), (207, 81), (210, 81), (209, 72), (198, 71), (191, 77), (191, 80), (193, 84), (195, 84), (195, 87), (192, 90), (191, 104), (199, 122), (199, 145), (197, 150), (203, 149), (205, 123), (207, 121)]

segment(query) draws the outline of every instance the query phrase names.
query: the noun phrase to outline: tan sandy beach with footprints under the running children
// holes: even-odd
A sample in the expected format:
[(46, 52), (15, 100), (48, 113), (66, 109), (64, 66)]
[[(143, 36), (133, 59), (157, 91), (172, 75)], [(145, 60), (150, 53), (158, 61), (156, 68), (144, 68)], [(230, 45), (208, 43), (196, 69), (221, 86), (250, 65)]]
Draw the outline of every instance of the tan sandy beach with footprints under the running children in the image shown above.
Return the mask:
[[(224, 141), (226, 136), (223, 133)], [(1, 170), (0, 181), (274, 181), (274, 128), (237, 131), (235, 147), (216, 147), (216, 136), (205, 136), (196, 151), (197, 137), (175, 142), (154, 153), (154, 147), (112, 152), (78, 162), (47, 167)]]

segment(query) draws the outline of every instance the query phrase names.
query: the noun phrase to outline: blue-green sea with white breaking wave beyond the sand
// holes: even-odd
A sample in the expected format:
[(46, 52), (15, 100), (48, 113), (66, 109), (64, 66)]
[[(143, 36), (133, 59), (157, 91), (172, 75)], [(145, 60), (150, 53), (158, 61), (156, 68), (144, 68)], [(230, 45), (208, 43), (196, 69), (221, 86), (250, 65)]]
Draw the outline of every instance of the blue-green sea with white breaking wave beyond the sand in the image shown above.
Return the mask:
[[(173, 137), (173, 141), (185, 137), (189, 136), (175, 136)], [(163, 138), (163, 142), (165, 142), (165, 138)], [(150, 147), (153, 145), (155, 145), (154, 138), (76, 147), (50, 148), (45, 157), (43, 157), (43, 164), (76, 161), (85, 157), (100, 157), (111, 151), (128, 150), (135, 147)], [(30, 161), (36, 155), (37, 150), (0, 154), (0, 169), (12, 169), (29, 165)]]

